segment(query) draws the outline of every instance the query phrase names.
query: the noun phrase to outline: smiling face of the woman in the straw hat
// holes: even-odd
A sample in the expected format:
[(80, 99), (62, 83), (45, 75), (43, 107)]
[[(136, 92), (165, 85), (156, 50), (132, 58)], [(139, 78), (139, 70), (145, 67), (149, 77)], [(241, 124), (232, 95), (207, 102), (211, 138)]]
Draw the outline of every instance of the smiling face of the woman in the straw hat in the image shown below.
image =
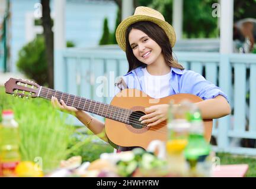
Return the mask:
[(162, 48), (145, 32), (133, 28), (129, 33), (129, 44), (137, 60), (147, 65), (164, 60)]

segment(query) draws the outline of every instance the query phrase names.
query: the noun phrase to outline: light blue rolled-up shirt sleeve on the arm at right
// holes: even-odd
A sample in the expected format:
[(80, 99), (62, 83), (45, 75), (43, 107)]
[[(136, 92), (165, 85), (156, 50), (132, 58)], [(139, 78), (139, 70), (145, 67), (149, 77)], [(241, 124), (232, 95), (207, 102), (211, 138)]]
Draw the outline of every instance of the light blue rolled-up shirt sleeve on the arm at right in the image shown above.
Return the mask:
[(220, 87), (217, 87), (215, 84), (207, 81), (199, 73), (195, 71), (187, 71), (183, 74), (183, 82), (181, 90), (185, 93), (195, 94), (201, 99), (213, 99), (218, 95), (222, 95), (229, 102), (228, 96), (222, 92)]

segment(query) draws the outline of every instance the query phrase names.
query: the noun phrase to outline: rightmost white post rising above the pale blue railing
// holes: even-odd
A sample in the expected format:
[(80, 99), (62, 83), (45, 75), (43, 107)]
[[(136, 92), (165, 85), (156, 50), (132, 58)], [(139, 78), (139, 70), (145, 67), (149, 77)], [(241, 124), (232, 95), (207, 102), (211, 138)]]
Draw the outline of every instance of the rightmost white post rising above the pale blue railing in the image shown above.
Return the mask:
[(233, 0), (220, 0), (220, 53), (233, 52)]

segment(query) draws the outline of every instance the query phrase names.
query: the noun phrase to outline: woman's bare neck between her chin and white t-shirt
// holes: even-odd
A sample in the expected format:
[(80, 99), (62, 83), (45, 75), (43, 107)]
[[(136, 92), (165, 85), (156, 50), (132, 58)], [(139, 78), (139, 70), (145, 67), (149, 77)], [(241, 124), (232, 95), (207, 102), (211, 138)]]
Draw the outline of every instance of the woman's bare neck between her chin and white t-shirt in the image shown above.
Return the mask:
[(171, 71), (171, 67), (165, 62), (164, 56), (160, 56), (155, 62), (149, 64), (146, 69), (153, 76), (162, 76)]

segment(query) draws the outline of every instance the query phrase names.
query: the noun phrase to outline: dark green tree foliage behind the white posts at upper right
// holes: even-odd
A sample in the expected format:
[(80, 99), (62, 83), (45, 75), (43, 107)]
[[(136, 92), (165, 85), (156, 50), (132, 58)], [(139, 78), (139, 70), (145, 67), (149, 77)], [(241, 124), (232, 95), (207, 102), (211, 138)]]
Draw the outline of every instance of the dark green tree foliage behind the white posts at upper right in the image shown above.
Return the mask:
[[(150, 6), (160, 11), (172, 24), (173, 0), (137, 0), (140, 6)], [(212, 5), (217, 0), (183, 0), (184, 38), (218, 37), (217, 17), (212, 17)], [(256, 0), (234, 0), (234, 21), (255, 18)]]

